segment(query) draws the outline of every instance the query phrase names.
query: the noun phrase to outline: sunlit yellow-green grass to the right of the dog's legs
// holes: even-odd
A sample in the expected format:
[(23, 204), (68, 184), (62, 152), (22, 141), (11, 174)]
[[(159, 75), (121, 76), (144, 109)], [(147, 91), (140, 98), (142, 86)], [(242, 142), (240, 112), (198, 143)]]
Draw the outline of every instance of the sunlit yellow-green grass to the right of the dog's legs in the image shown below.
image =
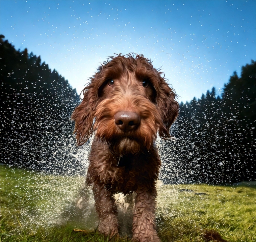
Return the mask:
[(163, 241), (207, 241), (210, 232), (227, 241), (256, 241), (255, 186), (167, 185), (157, 200)]

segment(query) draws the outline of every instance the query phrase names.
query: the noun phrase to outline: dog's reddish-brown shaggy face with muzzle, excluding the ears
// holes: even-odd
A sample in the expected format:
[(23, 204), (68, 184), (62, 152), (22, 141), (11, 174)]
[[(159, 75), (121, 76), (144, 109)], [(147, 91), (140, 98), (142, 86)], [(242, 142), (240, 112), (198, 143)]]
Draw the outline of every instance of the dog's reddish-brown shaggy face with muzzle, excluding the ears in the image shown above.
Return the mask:
[(101, 86), (96, 137), (106, 140), (114, 153), (136, 154), (141, 147), (150, 148), (162, 123), (156, 90), (148, 77), (139, 78), (129, 70), (118, 73), (121, 75), (110, 77)]

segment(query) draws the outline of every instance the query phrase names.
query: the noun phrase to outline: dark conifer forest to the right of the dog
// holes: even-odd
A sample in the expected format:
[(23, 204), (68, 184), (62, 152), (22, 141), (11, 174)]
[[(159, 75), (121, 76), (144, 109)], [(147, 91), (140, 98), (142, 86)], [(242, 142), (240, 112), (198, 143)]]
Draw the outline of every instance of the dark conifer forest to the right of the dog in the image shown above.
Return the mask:
[[(222, 97), (215, 88), (180, 104), (172, 133), (163, 144), (162, 172), (171, 183), (233, 183), (256, 180), (256, 62), (234, 72)], [(161, 149), (161, 148), (160, 148)], [(170, 165), (171, 161), (171, 165)]]

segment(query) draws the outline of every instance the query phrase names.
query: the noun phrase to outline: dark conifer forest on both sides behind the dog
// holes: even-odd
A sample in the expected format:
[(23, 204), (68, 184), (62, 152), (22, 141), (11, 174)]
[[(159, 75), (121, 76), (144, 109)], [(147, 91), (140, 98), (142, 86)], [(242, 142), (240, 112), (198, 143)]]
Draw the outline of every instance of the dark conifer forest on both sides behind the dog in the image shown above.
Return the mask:
[[(77, 148), (71, 113), (73, 89), (40, 56), (16, 50), (0, 35), (2, 163), (77, 173), (88, 147)], [(165, 183), (232, 183), (256, 180), (256, 62), (234, 72), (222, 96), (215, 88), (180, 103), (175, 141), (159, 143)], [(87, 152), (86, 151), (86, 152)], [(85, 161), (86, 162), (86, 161)]]

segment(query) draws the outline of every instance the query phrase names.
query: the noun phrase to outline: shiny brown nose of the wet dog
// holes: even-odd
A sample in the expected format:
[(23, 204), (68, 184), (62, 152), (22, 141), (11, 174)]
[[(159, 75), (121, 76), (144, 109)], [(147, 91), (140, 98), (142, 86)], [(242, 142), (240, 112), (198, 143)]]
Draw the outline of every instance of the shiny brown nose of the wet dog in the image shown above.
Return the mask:
[(123, 131), (131, 131), (139, 125), (139, 116), (134, 112), (117, 112), (115, 114), (115, 124)]

